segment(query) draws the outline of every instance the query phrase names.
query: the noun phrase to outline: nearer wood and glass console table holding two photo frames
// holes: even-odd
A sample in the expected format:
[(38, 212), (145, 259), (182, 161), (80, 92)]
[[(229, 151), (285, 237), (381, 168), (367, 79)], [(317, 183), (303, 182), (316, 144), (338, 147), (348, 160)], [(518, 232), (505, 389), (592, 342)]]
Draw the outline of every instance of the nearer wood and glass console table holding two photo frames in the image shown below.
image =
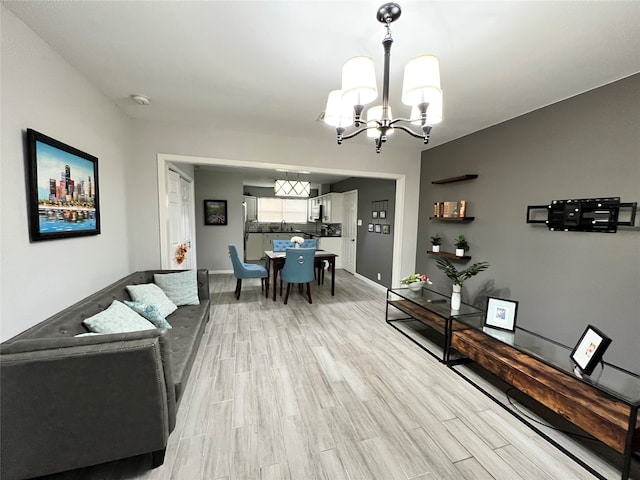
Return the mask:
[(571, 364), (572, 349), (565, 345), (524, 328), (511, 333), (483, 327), (484, 314), (455, 317), (451, 322), (446, 360), (452, 368), (460, 363), (453, 360), (456, 351), (473, 360), (622, 454), (622, 479), (629, 477), (631, 457), (640, 450), (640, 376), (603, 363), (591, 377), (581, 378)]

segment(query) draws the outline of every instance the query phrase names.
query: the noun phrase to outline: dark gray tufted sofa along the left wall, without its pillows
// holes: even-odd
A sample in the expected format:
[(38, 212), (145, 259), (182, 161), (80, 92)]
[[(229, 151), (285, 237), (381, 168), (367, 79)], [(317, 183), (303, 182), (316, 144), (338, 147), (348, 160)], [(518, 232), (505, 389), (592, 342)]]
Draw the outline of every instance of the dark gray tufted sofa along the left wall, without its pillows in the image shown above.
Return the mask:
[(209, 320), (208, 272), (197, 272), (200, 304), (178, 307), (171, 329), (75, 337), (87, 332), (83, 319), (130, 300), (126, 286), (155, 273), (170, 272), (128, 275), (0, 345), (2, 479), (147, 453), (163, 463)]

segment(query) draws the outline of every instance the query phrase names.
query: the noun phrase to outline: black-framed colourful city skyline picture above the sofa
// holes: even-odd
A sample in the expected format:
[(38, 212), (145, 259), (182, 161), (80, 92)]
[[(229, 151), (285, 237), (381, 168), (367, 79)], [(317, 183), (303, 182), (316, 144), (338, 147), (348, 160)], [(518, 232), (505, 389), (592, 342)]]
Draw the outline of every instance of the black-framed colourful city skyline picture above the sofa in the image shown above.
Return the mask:
[(26, 167), (32, 242), (100, 234), (97, 157), (28, 128)]

